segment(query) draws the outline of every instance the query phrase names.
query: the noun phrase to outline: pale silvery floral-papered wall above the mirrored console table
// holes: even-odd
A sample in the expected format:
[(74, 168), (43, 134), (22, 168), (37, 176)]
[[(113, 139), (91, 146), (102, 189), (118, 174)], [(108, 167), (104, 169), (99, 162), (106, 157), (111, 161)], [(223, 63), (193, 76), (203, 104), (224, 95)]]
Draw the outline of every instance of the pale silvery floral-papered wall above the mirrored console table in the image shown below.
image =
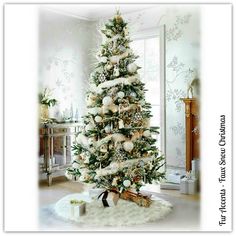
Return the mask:
[(48, 10), (40, 11), (39, 90), (48, 87), (59, 104), (55, 118), (81, 117), (91, 71), (94, 24)]

